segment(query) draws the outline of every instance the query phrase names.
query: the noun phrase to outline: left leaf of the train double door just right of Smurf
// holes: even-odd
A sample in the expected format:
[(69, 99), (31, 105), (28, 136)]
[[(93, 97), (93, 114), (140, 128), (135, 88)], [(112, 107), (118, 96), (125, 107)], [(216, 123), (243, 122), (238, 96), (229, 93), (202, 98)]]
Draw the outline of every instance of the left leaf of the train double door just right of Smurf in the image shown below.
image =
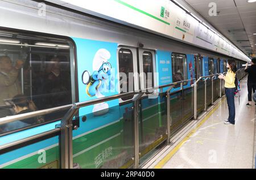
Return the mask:
[[(138, 66), (137, 66), (137, 49), (127, 46), (119, 46), (118, 54), (118, 68), (119, 68), (119, 93), (132, 92), (139, 89)], [(133, 155), (133, 129), (134, 129), (134, 113), (133, 113), (133, 95), (123, 97), (119, 100), (119, 112), (123, 119), (123, 140), (122, 144), (124, 152), (129, 152)]]

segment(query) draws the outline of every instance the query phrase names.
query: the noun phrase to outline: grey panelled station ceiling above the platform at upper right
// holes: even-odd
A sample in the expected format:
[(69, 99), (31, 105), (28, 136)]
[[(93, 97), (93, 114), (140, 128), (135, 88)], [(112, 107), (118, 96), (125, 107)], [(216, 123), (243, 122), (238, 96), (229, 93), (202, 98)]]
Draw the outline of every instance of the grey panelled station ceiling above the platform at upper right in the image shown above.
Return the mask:
[[(256, 2), (247, 0), (184, 0), (244, 53), (256, 53)], [(217, 5), (217, 16), (209, 15), (209, 3)], [(254, 35), (255, 33), (255, 35)]]

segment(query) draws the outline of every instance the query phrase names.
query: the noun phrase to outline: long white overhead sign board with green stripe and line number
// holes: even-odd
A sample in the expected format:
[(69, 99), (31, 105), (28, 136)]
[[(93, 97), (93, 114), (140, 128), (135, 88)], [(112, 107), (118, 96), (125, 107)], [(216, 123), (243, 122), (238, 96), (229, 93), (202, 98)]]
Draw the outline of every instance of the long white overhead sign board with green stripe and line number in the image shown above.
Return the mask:
[[(56, 2), (56, 0), (51, 1)], [(202, 48), (250, 61), (228, 40), (213, 33), (169, 0), (63, 0), (63, 6), (161, 33)]]

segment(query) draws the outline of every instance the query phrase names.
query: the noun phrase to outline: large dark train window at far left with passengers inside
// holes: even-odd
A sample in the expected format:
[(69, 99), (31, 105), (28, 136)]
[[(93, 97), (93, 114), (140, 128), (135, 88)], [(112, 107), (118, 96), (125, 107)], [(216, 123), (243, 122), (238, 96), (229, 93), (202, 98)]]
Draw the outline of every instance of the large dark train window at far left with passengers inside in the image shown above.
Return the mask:
[[(69, 41), (0, 31), (0, 118), (72, 104), (71, 49)], [(63, 115), (2, 125), (0, 134)]]

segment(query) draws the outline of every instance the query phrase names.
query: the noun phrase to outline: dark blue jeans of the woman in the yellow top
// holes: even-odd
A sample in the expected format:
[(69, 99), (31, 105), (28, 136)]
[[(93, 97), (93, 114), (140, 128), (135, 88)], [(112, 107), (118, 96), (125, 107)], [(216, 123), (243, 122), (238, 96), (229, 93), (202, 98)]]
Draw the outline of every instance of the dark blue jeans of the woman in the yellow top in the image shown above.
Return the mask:
[(236, 88), (225, 88), (226, 93), (226, 101), (228, 101), (228, 107), (229, 107), (229, 122), (234, 124), (235, 123), (235, 117), (236, 117), (236, 108), (234, 105), (234, 92), (236, 91)]

